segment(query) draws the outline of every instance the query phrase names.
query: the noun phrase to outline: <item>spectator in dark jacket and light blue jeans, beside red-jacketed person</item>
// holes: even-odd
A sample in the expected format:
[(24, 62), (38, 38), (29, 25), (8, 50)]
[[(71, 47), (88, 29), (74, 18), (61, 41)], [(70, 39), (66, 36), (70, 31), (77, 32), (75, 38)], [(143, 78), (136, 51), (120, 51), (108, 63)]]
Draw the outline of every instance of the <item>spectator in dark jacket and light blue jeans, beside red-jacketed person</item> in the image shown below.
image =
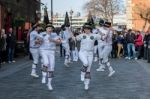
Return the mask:
[[(126, 57), (127, 59), (131, 59), (134, 58), (135, 60), (136, 58), (136, 52), (135, 52), (135, 39), (136, 39), (136, 35), (134, 34), (134, 31), (132, 31), (131, 29), (128, 31), (128, 33), (126, 34), (126, 41), (127, 41), (127, 50), (128, 50), (128, 57)], [(132, 53), (132, 57), (131, 57), (131, 53)]]

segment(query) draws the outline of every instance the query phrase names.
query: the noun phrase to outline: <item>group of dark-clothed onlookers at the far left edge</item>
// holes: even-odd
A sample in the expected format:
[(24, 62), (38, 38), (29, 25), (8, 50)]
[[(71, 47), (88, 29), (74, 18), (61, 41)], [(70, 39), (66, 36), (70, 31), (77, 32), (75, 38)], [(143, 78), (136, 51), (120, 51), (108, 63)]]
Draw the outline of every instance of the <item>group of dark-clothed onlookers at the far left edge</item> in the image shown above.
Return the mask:
[(12, 63), (14, 60), (14, 52), (16, 47), (16, 36), (13, 29), (10, 28), (6, 33), (5, 29), (0, 31), (0, 65), (6, 62)]

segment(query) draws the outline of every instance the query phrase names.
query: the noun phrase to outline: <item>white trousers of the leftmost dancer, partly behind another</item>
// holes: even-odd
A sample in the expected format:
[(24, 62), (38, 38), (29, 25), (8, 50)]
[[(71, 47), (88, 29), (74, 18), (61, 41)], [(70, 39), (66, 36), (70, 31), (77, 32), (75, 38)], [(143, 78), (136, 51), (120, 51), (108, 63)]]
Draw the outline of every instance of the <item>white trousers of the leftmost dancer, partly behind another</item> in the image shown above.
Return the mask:
[(30, 53), (32, 54), (32, 57), (33, 57), (33, 63), (38, 64), (39, 57), (40, 57), (39, 49), (38, 48), (30, 48)]

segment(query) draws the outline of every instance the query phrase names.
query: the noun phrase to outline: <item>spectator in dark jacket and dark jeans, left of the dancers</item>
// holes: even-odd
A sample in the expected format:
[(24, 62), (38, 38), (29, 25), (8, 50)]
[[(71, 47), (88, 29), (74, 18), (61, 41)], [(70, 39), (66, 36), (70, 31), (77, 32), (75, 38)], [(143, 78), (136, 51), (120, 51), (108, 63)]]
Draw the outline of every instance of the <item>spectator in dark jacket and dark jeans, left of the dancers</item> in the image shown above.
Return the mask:
[(8, 49), (8, 63), (15, 62), (14, 60), (14, 51), (16, 46), (16, 38), (13, 33), (13, 29), (9, 29), (9, 33), (7, 34), (7, 49)]

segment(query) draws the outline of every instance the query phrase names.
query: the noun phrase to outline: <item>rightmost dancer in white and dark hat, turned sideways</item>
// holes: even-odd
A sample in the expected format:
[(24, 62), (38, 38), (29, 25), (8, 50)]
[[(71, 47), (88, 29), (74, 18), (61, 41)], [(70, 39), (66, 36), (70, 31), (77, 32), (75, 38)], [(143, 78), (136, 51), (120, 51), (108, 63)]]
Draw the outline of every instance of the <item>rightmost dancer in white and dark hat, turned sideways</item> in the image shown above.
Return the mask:
[(104, 69), (105, 66), (107, 66), (108, 70), (109, 70), (108, 77), (111, 77), (115, 73), (115, 71), (113, 70), (113, 68), (110, 65), (110, 62), (108, 60), (109, 55), (112, 51), (112, 34), (113, 34), (113, 31), (111, 30), (111, 23), (105, 22), (104, 27), (101, 28), (99, 31), (101, 33), (102, 40), (104, 41), (103, 49), (101, 51), (102, 63), (104, 64), (101, 66), (104, 66), (104, 67), (103, 68), (99, 67), (99, 69)]

